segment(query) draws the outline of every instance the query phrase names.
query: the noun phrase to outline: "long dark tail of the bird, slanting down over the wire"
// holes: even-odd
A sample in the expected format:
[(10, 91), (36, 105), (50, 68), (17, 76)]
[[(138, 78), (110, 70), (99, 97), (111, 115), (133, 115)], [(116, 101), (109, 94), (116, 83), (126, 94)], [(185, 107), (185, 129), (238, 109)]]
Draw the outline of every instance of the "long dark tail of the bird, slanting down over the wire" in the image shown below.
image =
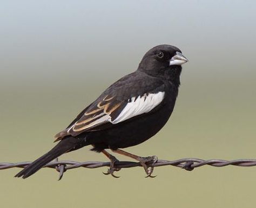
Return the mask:
[(55, 147), (53, 147), (49, 152), (39, 157), (36, 161), (32, 162), (28, 167), (24, 168), (22, 171), (18, 172), (15, 177), (28, 178), (32, 174), (35, 174), (39, 169), (44, 167), (58, 156), (64, 154), (65, 152), (71, 151), (72, 149), (78, 149), (80, 141), (75, 137), (66, 137), (60, 141)]

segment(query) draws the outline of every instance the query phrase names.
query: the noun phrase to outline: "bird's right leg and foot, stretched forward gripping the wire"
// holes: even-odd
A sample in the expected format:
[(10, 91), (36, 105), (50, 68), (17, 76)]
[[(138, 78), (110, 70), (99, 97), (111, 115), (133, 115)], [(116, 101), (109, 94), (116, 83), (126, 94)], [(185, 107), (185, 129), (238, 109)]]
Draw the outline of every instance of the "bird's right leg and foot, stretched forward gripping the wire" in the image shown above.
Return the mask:
[(139, 163), (142, 165), (142, 167), (144, 168), (147, 176), (147, 177), (151, 177), (151, 178), (154, 178), (156, 176), (151, 176), (152, 172), (153, 172), (153, 169), (154, 169), (154, 163), (157, 162), (158, 158), (157, 156), (149, 156), (149, 157), (140, 157), (140, 156), (137, 156), (137, 155), (133, 155), (129, 152), (126, 152), (124, 150), (120, 150), (120, 149), (117, 149), (117, 150), (112, 150), (113, 152), (116, 152), (120, 155), (124, 155), (124, 156), (127, 156), (127, 157), (131, 157), (133, 158), (134, 160), (137, 160), (139, 161)]

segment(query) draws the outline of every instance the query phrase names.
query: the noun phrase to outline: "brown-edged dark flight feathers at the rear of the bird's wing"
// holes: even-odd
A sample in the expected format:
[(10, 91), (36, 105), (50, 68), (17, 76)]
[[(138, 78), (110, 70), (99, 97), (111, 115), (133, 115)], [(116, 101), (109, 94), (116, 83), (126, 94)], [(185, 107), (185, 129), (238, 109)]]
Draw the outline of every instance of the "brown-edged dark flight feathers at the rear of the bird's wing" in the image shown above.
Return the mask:
[(117, 112), (123, 109), (124, 104), (124, 102), (115, 100), (114, 96), (106, 95), (98, 101), (97, 105), (88, 108), (80, 119), (70, 125), (69, 128), (56, 134), (55, 141), (62, 140), (68, 135), (76, 136), (84, 131), (95, 131), (111, 126), (110, 121), (116, 117)]

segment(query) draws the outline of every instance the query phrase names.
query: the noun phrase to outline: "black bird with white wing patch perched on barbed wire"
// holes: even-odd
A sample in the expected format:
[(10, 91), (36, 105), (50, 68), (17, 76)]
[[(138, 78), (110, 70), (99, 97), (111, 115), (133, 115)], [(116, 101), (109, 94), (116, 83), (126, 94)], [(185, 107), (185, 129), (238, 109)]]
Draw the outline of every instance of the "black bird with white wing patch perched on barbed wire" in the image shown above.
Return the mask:
[[(111, 160), (106, 174), (118, 170), (118, 161), (105, 149), (139, 161), (147, 176), (156, 156), (139, 157), (119, 148), (142, 143), (158, 133), (172, 114), (180, 85), (181, 65), (188, 60), (179, 48), (158, 45), (149, 50), (137, 71), (126, 75), (107, 88), (55, 138), (59, 143), (28, 165), (15, 177), (27, 178), (65, 152), (92, 145)], [(152, 165), (151, 165), (152, 166)]]

